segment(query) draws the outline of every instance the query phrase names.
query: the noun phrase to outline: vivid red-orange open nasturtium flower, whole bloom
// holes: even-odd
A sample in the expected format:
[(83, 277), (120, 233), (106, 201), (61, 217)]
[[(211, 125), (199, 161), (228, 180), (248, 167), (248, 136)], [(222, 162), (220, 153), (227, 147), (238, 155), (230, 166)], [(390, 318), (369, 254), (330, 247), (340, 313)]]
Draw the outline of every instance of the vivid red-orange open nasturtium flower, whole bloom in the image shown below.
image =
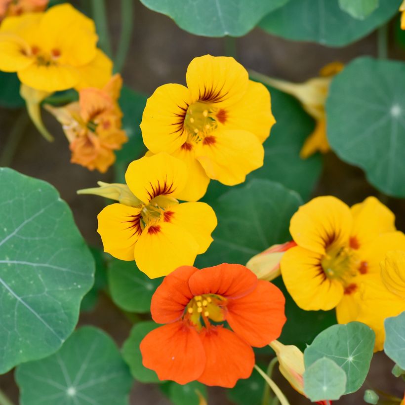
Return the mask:
[[(179, 267), (152, 297), (152, 318), (164, 325), (142, 340), (143, 365), (161, 380), (231, 388), (250, 376), (252, 346), (280, 336), (284, 302), (275, 285), (242, 265)], [(218, 324), (224, 321), (232, 330)]]

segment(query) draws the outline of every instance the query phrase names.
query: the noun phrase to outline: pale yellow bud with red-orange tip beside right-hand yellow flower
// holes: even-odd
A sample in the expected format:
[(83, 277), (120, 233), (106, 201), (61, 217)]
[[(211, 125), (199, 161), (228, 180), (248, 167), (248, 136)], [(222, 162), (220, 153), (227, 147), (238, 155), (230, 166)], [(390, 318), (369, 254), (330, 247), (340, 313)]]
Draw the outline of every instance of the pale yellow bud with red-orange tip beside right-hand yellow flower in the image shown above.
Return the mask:
[(274, 244), (261, 253), (253, 256), (246, 267), (250, 269), (258, 279), (272, 281), (280, 276), (280, 261), (286, 250), (296, 246), (294, 241), (283, 244)]

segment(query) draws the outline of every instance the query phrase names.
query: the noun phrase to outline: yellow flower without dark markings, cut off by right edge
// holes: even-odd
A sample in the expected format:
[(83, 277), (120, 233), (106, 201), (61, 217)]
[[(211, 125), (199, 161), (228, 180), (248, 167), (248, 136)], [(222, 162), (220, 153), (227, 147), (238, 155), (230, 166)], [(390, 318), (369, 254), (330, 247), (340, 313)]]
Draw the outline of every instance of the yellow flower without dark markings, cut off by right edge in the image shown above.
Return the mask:
[(405, 311), (405, 251), (387, 252), (381, 261), (381, 278), (367, 280), (361, 288), (357, 321), (375, 332), (375, 350), (385, 340), (384, 320)]

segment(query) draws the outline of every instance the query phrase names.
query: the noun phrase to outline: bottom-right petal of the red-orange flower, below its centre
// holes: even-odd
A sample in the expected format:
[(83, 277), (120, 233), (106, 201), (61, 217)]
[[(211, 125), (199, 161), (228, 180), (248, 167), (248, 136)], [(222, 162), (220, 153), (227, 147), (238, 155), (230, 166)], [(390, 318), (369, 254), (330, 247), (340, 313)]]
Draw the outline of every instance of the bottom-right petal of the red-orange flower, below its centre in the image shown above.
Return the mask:
[(248, 378), (254, 365), (252, 348), (222, 326), (200, 333), (205, 351), (205, 369), (198, 379), (205, 385), (232, 388), (240, 378)]

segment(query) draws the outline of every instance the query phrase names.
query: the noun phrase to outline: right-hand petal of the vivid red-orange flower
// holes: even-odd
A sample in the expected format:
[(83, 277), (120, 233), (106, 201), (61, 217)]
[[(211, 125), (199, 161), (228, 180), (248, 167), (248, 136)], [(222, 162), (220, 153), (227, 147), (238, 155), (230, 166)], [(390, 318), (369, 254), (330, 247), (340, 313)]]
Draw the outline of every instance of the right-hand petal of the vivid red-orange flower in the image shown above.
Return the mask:
[(263, 347), (281, 335), (286, 321), (284, 304), (280, 289), (260, 280), (250, 294), (229, 300), (226, 321), (249, 345)]

